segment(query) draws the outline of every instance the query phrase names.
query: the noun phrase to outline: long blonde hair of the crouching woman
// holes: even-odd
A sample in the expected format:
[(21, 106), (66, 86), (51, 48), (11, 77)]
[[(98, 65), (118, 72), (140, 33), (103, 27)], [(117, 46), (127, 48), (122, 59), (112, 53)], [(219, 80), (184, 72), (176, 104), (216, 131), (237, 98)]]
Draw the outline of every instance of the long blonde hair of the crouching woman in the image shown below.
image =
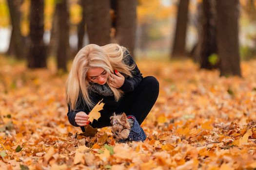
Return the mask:
[[(132, 70), (135, 64), (127, 66), (123, 58), (126, 48), (118, 44), (107, 44), (98, 46), (89, 44), (83, 47), (75, 56), (66, 81), (66, 102), (70, 105), (71, 110), (75, 110), (79, 98), (79, 93), (84, 99), (88, 107), (93, 107), (93, 103), (89, 98), (88, 89), (90, 87), (88, 79), (86, 79), (89, 68), (103, 68), (108, 73), (113, 74), (113, 70), (118, 71), (132, 77)], [(109, 85), (109, 79), (106, 82)], [(115, 100), (118, 101), (122, 96), (122, 91), (109, 85), (114, 93)], [(83, 100), (81, 100), (83, 101)]]

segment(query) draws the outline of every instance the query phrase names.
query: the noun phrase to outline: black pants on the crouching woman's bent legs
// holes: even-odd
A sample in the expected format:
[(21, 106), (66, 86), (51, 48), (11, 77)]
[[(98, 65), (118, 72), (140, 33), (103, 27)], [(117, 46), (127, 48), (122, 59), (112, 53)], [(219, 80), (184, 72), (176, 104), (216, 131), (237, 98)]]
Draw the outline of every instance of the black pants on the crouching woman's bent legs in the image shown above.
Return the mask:
[[(127, 116), (133, 115), (138, 123), (141, 124), (157, 101), (158, 93), (158, 80), (153, 76), (144, 77), (134, 91), (123, 96), (115, 113), (120, 114), (124, 112)], [(90, 123), (91, 126), (94, 128), (110, 126), (110, 117), (113, 115), (113, 112), (109, 113), (101, 110), (100, 113), (101, 117), (98, 121)]]

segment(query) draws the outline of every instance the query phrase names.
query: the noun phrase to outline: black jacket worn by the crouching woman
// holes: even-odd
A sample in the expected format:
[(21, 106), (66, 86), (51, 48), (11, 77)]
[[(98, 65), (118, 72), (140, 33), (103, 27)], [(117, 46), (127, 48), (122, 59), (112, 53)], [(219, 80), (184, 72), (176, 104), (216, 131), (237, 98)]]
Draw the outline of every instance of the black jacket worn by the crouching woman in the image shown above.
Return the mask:
[[(124, 59), (126, 60), (125, 63), (127, 63), (129, 66), (132, 66), (135, 63), (135, 61), (131, 57), (129, 52), (125, 51), (124, 55), (126, 56), (126, 57), (124, 57)], [(135, 63), (135, 65), (136, 65), (136, 63)], [(120, 87), (120, 89), (124, 93), (132, 92), (139, 85), (140, 81), (143, 78), (137, 65), (133, 69), (132, 75), (133, 75), (133, 77), (125, 76), (124, 84)], [(89, 93), (89, 96), (90, 96), (91, 101), (95, 104), (97, 104), (101, 99), (103, 99), (102, 102), (105, 103), (103, 109), (110, 111), (110, 112), (114, 112), (115, 109), (118, 108), (118, 106), (120, 104), (120, 100), (118, 102), (116, 102), (114, 96), (101, 96), (96, 93)], [(86, 104), (84, 104), (85, 102), (82, 100), (83, 100), (83, 98), (81, 97), (81, 94), (79, 94), (78, 105), (75, 110), (70, 110), (70, 105), (68, 104), (67, 116), (68, 116), (69, 122), (73, 126), (79, 127), (79, 125), (75, 121), (75, 117), (76, 117), (77, 113), (82, 111), (82, 112), (85, 112), (86, 114), (88, 114), (94, 107), (93, 106), (92, 108), (89, 108)]]

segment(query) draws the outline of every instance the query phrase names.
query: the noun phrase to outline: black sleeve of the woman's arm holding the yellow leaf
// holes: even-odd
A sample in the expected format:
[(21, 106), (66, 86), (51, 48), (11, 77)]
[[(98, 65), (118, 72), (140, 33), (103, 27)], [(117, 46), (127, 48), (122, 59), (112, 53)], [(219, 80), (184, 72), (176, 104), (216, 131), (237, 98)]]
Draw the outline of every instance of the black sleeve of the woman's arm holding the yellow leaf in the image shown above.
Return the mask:
[[(94, 94), (90, 94), (90, 99), (94, 103), (94, 106), (100, 101), (100, 97), (97, 96), (97, 95), (94, 95)], [(94, 106), (91, 107), (91, 108), (88, 107), (83, 102), (81, 95), (79, 95), (78, 105), (77, 105), (75, 110), (71, 110), (70, 105), (68, 104), (67, 116), (68, 116), (68, 120), (69, 120), (70, 124), (72, 124), (73, 126), (79, 127), (79, 125), (75, 121), (76, 114), (79, 113), (79, 112), (85, 112), (88, 115), (88, 113), (91, 112), (91, 110), (94, 108)]]

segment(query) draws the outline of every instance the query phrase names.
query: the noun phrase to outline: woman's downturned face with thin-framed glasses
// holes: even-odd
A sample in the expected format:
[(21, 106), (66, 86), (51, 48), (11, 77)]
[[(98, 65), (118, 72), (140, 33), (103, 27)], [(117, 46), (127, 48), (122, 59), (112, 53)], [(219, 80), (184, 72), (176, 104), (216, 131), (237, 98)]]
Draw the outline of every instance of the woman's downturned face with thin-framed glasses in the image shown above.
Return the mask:
[(103, 68), (89, 68), (87, 71), (88, 79), (93, 83), (104, 85), (107, 82), (109, 73)]

